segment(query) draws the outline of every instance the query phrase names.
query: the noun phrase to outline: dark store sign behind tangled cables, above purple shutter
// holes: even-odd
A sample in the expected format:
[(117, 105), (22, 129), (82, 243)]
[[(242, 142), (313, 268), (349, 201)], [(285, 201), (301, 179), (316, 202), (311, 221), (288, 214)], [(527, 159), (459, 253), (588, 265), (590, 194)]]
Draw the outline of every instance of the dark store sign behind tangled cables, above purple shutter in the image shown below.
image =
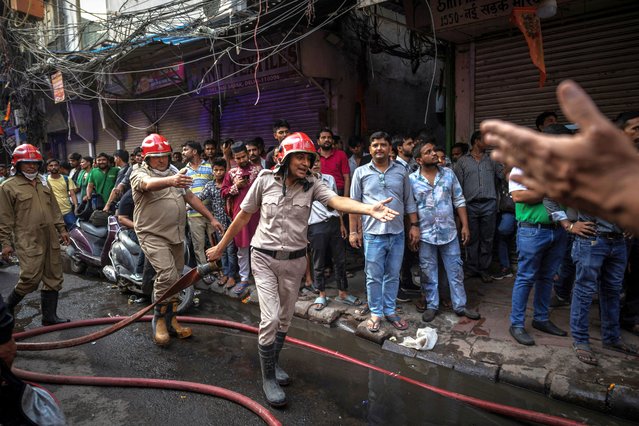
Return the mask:
[(272, 49), (260, 52), (259, 66), (255, 72), (258, 55), (250, 48), (224, 53), (214, 60), (198, 61), (189, 65), (187, 82), (189, 91), (196, 96), (211, 96), (226, 91), (241, 90), (257, 84), (272, 83), (298, 75), (300, 55), (297, 44), (286, 47), (279, 53)]

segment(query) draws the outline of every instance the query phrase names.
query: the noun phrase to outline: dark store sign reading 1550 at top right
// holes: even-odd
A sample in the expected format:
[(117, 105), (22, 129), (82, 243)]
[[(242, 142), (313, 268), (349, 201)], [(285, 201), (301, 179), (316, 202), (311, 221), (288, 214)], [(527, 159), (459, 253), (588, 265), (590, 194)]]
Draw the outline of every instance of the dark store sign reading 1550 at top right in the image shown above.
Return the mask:
[(515, 7), (537, 6), (540, 0), (431, 0), (437, 31), (508, 16)]

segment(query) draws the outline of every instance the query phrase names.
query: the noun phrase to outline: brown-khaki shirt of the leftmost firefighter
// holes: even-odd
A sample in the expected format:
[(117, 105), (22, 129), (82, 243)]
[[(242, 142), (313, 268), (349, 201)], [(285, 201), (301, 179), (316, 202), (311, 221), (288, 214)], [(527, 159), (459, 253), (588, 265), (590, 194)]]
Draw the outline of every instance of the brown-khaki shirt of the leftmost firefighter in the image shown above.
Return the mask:
[[(0, 243), (11, 245), (15, 234), (16, 249), (22, 253), (39, 255), (44, 253), (38, 241), (41, 228), (50, 228), (55, 234), (65, 233), (60, 207), (51, 188), (41, 175), (35, 178), (36, 185), (22, 175), (6, 179), (0, 185)], [(59, 247), (57, 238), (52, 239), (54, 248)]]

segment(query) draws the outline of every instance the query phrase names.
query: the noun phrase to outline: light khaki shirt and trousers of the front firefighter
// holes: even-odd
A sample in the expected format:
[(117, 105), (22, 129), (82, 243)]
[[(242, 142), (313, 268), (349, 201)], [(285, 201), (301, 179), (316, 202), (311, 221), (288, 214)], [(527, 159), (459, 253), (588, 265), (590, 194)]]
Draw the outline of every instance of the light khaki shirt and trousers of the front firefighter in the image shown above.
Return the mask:
[[(251, 240), (251, 268), (260, 301), (260, 345), (270, 345), (278, 331), (288, 331), (300, 281), (306, 271), (306, 256), (277, 258), (306, 249), (311, 204), (319, 201), (326, 206), (337, 196), (321, 179), (309, 177), (307, 180), (312, 184), (307, 191), (297, 182), (286, 188), (284, 196), (281, 176), (272, 170), (263, 170), (240, 205), (246, 213), (259, 211), (260, 215)], [(271, 251), (277, 258), (259, 249)]]

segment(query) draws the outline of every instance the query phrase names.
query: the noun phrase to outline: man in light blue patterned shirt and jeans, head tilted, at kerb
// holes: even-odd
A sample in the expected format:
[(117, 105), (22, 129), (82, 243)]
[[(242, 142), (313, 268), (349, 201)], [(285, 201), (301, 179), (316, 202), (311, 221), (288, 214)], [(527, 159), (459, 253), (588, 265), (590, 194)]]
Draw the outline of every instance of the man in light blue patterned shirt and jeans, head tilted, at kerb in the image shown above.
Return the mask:
[(424, 322), (432, 321), (439, 309), (438, 253), (448, 276), (453, 310), (459, 316), (479, 319), (477, 312), (466, 308), (464, 270), (453, 212), (454, 207), (461, 222), (461, 243), (466, 245), (470, 240), (470, 232), (462, 187), (455, 173), (439, 164), (435, 145), (420, 144), (414, 154), (420, 168), (409, 179), (419, 217), (419, 265), (427, 278), (424, 284), (426, 311), (422, 319)]

